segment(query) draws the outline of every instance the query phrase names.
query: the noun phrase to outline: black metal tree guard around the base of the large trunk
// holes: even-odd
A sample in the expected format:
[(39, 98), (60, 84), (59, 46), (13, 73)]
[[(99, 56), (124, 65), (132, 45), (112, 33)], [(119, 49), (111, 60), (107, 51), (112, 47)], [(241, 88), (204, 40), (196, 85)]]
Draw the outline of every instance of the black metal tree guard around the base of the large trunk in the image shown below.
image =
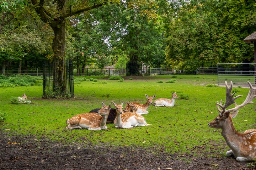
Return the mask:
[[(58, 97), (70, 95), (74, 97), (74, 78), (73, 78), (73, 63), (71, 58), (65, 60), (66, 76), (62, 82), (65, 82), (65, 92), (58, 90), (55, 84), (54, 62), (44, 61), (43, 64), (43, 96)], [(66, 96), (68, 97), (68, 96)]]

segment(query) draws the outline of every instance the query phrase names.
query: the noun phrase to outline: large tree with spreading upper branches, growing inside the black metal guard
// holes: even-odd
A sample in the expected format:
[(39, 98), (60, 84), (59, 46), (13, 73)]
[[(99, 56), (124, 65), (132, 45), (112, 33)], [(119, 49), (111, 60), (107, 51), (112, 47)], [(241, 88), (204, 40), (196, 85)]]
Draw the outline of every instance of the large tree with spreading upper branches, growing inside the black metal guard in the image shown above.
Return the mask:
[(54, 84), (58, 87), (54, 89), (58, 89), (63, 93), (66, 91), (64, 65), (66, 21), (71, 16), (80, 15), (86, 11), (90, 11), (103, 5), (116, 3), (117, 1), (31, 0), (31, 2), (42, 21), (49, 24), (53, 29), (53, 55), (49, 58), (54, 63)]

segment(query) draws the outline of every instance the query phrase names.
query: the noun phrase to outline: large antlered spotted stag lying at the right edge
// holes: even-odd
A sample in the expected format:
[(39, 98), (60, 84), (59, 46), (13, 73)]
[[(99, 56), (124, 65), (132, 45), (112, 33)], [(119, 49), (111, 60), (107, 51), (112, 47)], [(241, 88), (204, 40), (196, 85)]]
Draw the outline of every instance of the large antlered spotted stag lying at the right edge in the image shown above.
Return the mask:
[[(251, 83), (247, 81), (250, 86), (250, 91), (245, 101), (238, 105), (235, 100), (242, 95), (235, 95), (235, 92), (231, 95), (233, 87), (232, 81), (230, 87), (225, 81), (226, 85), (226, 101), (222, 104), (222, 100), (217, 102), (217, 109), (219, 115), (211, 121), (208, 126), (210, 128), (222, 129), (222, 136), (224, 137), (227, 145), (231, 149), (226, 152), (226, 157), (234, 156), (237, 162), (253, 162), (256, 159), (256, 129), (246, 130), (244, 133), (239, 133), (235, 130), (232, 118), (238, 114), (238, 109), (244, 107), (246, 104), (253, 103), (252, 100), (256, 97), (256, 89), (252, 87)], [(231, 104), (234, 104), (234, 108), (226, 109)]]

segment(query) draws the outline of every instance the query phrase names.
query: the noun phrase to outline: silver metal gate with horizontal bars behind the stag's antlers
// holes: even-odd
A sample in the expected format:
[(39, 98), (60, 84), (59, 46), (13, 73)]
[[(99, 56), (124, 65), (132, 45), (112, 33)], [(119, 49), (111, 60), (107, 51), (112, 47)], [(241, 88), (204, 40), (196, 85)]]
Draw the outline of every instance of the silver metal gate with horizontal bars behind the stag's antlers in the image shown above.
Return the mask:
[(249, 81), (256, 84), (256, 63), (219, 63), (218, 86), (225, 85), (225, 81), (232, 81), (234, 86), (247, 86)]

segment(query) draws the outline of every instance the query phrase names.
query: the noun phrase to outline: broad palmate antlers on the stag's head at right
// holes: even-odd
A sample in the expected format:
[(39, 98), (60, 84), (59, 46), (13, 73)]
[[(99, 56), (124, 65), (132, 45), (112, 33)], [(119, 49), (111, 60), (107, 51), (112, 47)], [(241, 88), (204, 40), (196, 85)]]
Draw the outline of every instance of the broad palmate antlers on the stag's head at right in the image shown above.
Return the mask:
[[(244, 107), (246, 104), (253, 103), (252, 100), (256, 97), (256, 95), (255, 95), (256, 89), (252, 87), (252, 85), (249, 81), (247, 81), (247, 83), (250, 86), (250, 91), (249, 91), (244, 103), (242, 103), (240, 105), (237, 105), (235, 100), (238, 97), (241, 97), (242, 95), (238, 95), (238, 96), (233, 98), (233, 96), (235, 95), (235, 92), (231, 95), (233, 83), (232, 83), (232, 81), (230, 81), (230, 88), (229, 88), (227, 82), (225, 81), (225, 84), (226, 84), (226, 101), (225, 101), (225, 104), (224, 104), (224, 106), (222, 105), (222, 100), (220, 101), (220, 103), (217, 102), (217, 109), (218, 109), (220, 115), (224, 114), (226, 111), (230, 111), (230, 112), (238, 111), (239, 108)], [(235, 104), (235, 107), (226, 110), (226, 108), (229, 107), (233, 103)], [(220, 109), (219, 107), (221, 107), (222, 109)], [(236, 114), (237, 113), (238, 112), (236, 112)]]

